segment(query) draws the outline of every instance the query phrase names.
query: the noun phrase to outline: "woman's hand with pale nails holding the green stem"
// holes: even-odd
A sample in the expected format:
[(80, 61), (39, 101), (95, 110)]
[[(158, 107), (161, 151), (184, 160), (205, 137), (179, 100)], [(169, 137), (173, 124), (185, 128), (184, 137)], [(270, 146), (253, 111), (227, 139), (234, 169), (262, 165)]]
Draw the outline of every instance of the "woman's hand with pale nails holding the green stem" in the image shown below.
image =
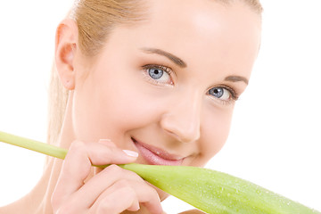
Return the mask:
[(128, 155), (108, 141), (73, 142), (53, 191), (53, 212), (116, 214), (125, 210), (137, 211), (140, 204), (144, 204), (152, 214), (161, 214), (158, 193), (134, 172), (111, 165), (87, 180), (92, 164), (133, 161), (136, 161), (135, 155)]

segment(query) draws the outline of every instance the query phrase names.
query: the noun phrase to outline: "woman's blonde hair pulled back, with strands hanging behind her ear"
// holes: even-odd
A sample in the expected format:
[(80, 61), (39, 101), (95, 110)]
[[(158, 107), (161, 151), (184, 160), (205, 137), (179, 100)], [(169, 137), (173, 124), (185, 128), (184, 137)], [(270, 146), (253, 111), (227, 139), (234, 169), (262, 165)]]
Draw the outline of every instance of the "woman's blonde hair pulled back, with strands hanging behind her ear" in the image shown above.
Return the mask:
[[(229, 4), (235, 0), (216, 0)], [(259, 0), (239, 0), (261, 14)], [(76, 0), (70, 18), (78, 24), (78, 41), (82, 53), (94, 57), (103, 47), (111, 30), (119, 24), (134, 24), (144, 20), (146, 0)], [(55, 144), (60, 136), (69, 91), (62, 86), (53, 63), (49, 89), (49, 144)]]

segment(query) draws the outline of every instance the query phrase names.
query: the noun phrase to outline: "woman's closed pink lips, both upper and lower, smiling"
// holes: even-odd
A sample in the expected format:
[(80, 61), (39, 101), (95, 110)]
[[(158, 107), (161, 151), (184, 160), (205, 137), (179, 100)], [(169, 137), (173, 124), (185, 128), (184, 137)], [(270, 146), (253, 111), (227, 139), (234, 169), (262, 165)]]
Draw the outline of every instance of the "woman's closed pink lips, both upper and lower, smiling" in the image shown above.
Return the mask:
[(149, 144), (143, 144), (132, 138), (136, 148), (143, 156), (144, 160), (152, 165), (168, 165), (168, 166), (180, 166), (183, 162), (183, 157), (169, 154), (160, 148), (156, 148)]

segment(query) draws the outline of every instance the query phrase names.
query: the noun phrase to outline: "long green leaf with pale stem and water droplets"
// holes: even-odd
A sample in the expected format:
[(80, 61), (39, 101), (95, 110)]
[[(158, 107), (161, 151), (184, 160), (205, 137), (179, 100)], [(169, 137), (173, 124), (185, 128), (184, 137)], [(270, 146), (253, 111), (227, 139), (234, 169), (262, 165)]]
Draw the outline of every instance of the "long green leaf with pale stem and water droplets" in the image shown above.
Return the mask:
[[(68, 152), (4, 132), (0, 132), (0, 141), (60, 159), (64, 159)], [(210, 214), (321, 214), (259, 185), (211, 169), (136, 163), (119, 166), (136, 172), (152, 185)]]

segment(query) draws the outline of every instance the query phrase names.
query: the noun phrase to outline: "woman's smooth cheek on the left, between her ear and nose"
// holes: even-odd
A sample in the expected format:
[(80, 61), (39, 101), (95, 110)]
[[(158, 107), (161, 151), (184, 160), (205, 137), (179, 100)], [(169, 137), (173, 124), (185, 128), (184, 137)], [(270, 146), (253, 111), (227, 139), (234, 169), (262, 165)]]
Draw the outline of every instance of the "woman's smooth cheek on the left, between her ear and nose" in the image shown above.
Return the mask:
[(146, 92), (133, 78), (112, 76), (88, 79), (75, 93), (73, 121), (78, 139), (111, 138), (120, 145), (128, 131), (160, 118), (157, 96)]

